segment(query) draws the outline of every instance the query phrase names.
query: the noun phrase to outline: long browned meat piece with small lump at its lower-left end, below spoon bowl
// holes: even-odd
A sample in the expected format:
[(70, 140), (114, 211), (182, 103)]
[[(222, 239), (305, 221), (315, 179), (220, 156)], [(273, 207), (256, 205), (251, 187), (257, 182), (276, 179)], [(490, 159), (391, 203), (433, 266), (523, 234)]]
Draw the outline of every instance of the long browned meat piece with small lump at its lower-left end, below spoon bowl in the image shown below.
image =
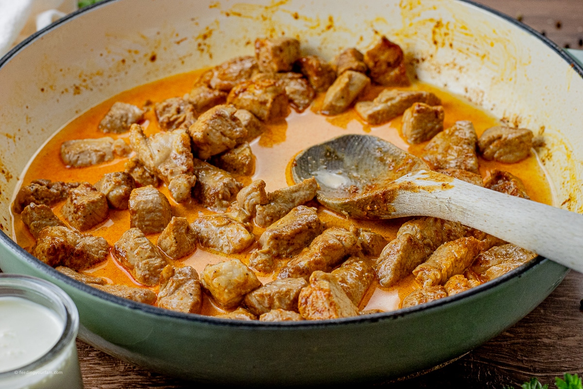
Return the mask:
[(275, 257), (290, 257), (308, 246), (324, 230), (315, 208), (299, 205), (265, 229), (259, 237), (261, 250), (253, 251), (250, 266), (258, 271), (273, 271)]

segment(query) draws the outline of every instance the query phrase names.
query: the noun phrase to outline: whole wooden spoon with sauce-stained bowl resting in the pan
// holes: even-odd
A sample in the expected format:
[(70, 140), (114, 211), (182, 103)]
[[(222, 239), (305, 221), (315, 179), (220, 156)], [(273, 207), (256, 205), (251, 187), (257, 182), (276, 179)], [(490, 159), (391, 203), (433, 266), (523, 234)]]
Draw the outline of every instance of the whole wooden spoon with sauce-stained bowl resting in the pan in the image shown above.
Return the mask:
[(429, 170), (371, 135), (343, 135), (298, 154), (296, 182), (315, 177), (317, 199), (357, 219), (434, 216), (489, 233), (583, 272), (583, 215)]

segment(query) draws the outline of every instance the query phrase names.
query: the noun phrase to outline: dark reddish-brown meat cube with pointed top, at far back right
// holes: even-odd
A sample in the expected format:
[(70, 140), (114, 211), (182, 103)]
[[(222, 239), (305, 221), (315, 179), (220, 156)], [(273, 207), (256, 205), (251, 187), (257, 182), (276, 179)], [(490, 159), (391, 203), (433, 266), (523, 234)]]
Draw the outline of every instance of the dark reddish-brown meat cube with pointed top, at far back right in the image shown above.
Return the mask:
[(409, 85), (403, 50), (384, 36), (373, 48), (364, 53), (364, 63), (368, 66), (370, 78), (377, 84)]

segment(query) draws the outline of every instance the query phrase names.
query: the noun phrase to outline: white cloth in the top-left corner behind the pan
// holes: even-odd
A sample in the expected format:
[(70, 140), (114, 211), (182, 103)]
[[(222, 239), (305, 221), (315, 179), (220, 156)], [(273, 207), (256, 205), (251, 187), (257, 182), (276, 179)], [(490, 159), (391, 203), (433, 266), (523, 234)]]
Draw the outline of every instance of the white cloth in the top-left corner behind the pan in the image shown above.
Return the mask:
[(0, 57), (34, 31), (75, 9), (76, 0), (0, 0)]

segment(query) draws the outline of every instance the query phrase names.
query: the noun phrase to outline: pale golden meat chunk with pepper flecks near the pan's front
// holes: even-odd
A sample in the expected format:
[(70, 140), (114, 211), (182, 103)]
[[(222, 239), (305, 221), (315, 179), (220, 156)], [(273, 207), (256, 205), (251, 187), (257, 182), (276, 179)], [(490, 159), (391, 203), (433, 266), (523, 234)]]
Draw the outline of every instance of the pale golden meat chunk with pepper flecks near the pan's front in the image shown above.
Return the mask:
[(240, 260), (206, 265), (201, 281), (213, 299), (225, 309), (238, 306), (247, 293), (261, 286), (255, 273)]

